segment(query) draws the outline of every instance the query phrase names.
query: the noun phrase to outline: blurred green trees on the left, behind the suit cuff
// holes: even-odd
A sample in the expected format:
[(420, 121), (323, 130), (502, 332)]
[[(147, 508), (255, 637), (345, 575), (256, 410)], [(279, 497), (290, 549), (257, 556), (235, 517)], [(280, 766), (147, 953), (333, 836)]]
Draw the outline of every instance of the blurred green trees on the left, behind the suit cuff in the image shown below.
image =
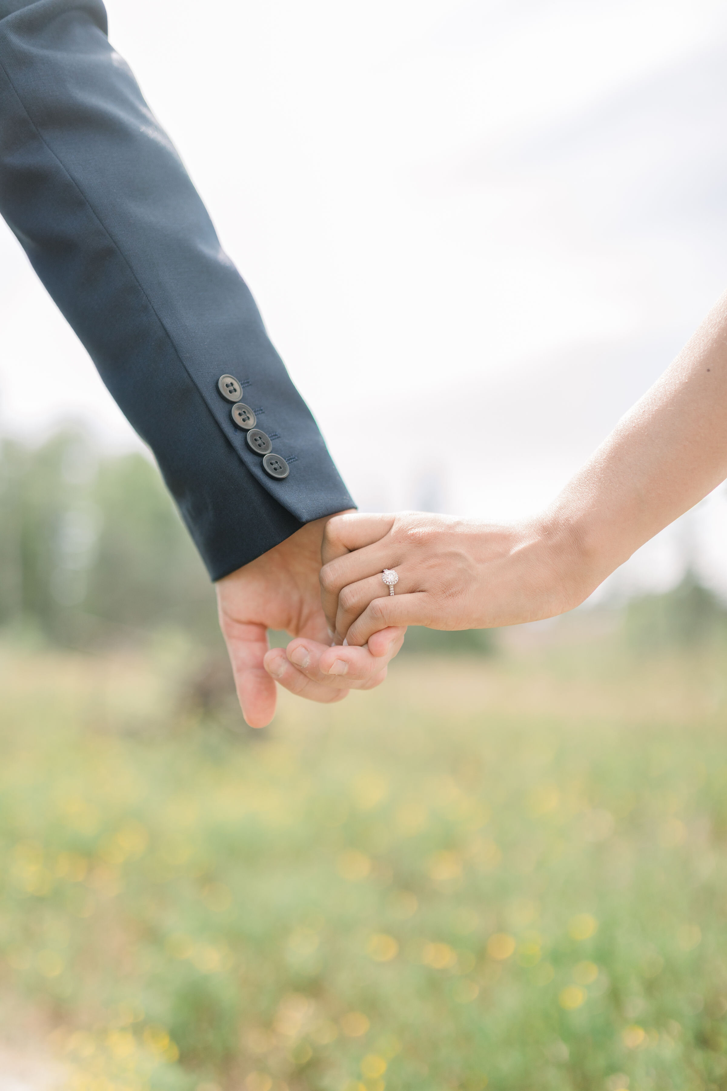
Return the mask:
[(87, 646), (160, 625), (214, 639), (214, 592), (157, 469), (66, 431), (0, 444), (0, 625)]

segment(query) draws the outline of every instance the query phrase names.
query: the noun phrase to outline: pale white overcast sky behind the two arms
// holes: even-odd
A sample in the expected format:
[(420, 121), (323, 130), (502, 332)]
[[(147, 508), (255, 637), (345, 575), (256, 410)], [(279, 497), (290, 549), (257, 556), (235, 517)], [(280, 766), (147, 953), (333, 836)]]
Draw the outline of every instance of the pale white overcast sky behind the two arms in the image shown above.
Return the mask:
[[(108, 9), (364, 507), (536, 509), (727, 288), (722, 2)], [(137, 443), (5, 228), (0, 324), (4, 431)], [(618, 580), (726, 544), (718, 492)]]

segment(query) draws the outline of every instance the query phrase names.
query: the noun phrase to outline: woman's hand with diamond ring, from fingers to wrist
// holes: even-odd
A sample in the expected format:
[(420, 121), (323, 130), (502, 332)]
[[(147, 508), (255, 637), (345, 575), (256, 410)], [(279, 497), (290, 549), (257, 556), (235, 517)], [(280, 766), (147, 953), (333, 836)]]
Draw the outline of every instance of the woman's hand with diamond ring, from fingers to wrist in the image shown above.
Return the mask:
[[(349, 645), (392, 625), (489, 628), (552, 618), (598, 584), (568, 527), (545, 517), (498, 527), (421, 512), (338, 515), (322, 554), (326, 619)], [(393, 596), (384, 568), (398, 573)]]

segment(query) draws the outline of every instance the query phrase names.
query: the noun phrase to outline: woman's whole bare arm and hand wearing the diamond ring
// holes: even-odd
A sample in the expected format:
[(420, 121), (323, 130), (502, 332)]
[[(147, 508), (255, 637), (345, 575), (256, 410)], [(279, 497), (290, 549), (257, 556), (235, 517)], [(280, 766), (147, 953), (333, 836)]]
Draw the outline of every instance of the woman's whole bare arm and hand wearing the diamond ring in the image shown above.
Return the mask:
[[(393, 625), (555, 616), (726, 477), (727, 297), (541, 515), (511, 526), (416, 512), (330, 519), (320, 572), (328, 625), (339, 643), (372, 647)], [(393, 597), (384, 568), (399, 574)], [(334, 650), (346, 678), (349, 649)]]

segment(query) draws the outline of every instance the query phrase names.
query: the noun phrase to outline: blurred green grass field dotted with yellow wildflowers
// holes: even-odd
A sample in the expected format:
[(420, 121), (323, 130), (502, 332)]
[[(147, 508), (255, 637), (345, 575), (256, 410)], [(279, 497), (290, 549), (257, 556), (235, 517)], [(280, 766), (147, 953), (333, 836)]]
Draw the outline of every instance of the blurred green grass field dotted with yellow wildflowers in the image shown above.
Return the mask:
[(724, 650), (412, 657), (257, 733), (192, 659), (0, 652), (7, 1035), (77, 1091), (727, 1089)]

